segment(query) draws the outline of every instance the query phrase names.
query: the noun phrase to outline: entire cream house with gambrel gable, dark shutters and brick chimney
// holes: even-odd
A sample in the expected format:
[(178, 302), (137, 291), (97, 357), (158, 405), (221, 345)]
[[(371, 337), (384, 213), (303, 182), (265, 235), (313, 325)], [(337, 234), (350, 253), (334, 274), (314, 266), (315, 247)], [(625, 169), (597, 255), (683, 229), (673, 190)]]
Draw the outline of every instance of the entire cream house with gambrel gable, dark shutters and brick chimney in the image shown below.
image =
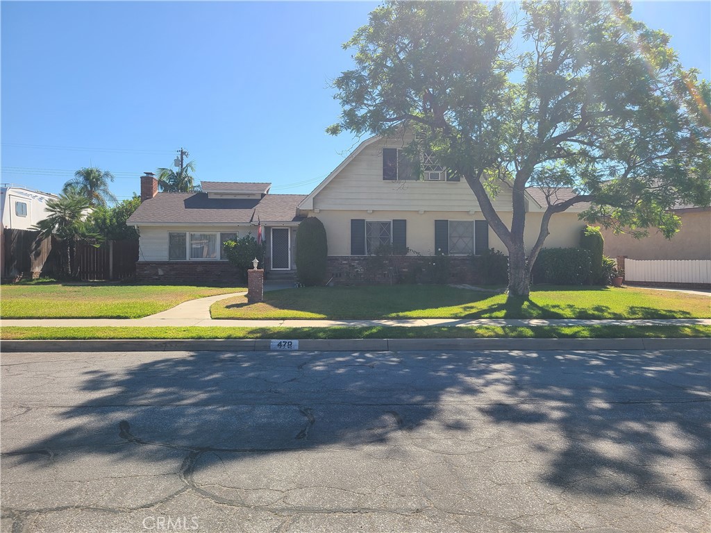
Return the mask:
[[(158, 193), (151, 173), (141, 177), (143, 203), (128, 223), (139, 228), (139, 279), (228, 279), (230, 265), (221, 243), (257, 235), (264, 227), (268, 271), (294, 271), (296, 227), (304, 217), (319, 217), (328, 239), (329, 278), (336, 282), (368, 279), (365, 263), (381, 245), (391, 245), (403, 269), (422, 257), (450, 257), (453, 279), (466, 281), (472, 254), (506, 247), (488, 227), (465, 181), (424, 158), (424, 179), (414, 176), (402, 149), (407, 139), (375, 136), (363, 141), (309, 195), (272, 195), (269, 183), (202, 182), (201, 193)], [(538, 237), (545, 193), (529, 190), (525, 243)], [(510, 222), (511, 193), (493, 198)], [(576, 205), (552, 217), (547, 247), (579, 244), (584, 223)]]

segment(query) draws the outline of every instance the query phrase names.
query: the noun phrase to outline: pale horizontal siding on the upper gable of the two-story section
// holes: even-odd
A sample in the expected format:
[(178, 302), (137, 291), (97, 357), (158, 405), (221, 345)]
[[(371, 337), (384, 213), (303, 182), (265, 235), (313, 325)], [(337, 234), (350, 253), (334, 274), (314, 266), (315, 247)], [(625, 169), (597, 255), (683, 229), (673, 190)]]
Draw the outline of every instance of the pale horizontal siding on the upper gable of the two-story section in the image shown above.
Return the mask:
[[(479, 211), (466, 181), (383, 180), (383, 148), (402, 146), (402, 141), (393, 139), (366, 146), (316, 194), (314, 209)], [(502, 188), (493, 205), (496, 210), (510, 211), (510, 190)]]

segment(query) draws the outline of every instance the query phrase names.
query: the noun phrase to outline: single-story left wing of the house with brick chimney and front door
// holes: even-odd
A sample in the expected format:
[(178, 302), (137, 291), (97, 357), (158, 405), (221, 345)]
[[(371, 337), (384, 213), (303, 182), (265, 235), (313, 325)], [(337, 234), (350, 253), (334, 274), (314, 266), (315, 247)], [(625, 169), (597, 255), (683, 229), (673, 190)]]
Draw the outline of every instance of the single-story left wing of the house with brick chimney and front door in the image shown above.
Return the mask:
[(141, 205), (127, 220), (140, 233), (138, 279), (216, 281), (234, 278), (223, 243), (252, 235), (267, 246), (270, 271), (290, 272), (296, 206), (304, 195), (269, 194), (271, 183), (201, 182), (198, 193), (159, 193), (153, 173), (141, 176)]

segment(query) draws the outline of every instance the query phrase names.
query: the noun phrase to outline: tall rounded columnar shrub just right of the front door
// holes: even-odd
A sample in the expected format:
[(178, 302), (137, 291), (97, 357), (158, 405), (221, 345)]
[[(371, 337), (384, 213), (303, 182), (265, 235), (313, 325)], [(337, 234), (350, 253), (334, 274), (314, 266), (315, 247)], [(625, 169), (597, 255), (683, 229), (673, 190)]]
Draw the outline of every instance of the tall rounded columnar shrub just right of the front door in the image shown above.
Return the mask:
[(304, 285), (320, 285), (326, 278), (326, 228), (316, 217), (301, 221), (296, 230), (296, 277)]

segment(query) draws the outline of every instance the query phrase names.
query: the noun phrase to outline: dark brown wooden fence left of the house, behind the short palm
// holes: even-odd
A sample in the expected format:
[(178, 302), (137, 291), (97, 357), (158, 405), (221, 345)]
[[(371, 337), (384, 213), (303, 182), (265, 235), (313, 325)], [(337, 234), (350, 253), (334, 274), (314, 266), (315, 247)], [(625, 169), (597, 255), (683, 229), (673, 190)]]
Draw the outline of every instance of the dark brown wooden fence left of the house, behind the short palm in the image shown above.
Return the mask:
[[(4, 279), (55, 276), (60, 269), (62, 247), (55, 239), (36, 243), (38, 232), (5, 229), (2, 232), (2, 277)], [(138, 241), (107, 241), (100, 247), (80, 243), (75, 252), (82, 280), (129, 279), (136, 275)]]

